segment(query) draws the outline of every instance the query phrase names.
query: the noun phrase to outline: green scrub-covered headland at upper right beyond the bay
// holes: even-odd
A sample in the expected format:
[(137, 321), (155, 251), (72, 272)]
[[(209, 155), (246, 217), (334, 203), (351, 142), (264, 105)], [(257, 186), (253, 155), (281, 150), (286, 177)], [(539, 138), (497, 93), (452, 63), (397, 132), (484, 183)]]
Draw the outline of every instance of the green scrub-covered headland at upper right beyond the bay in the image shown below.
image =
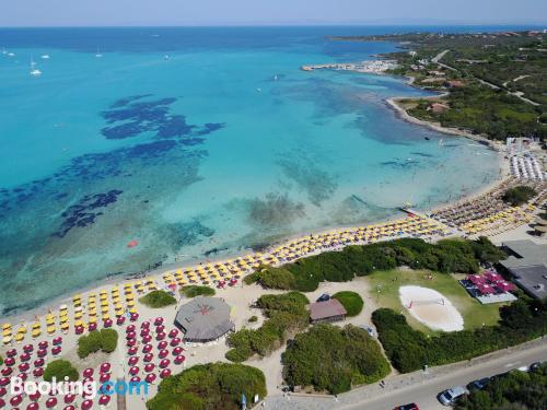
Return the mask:
[[(428, 109), (431, 101), (415, 101), (409, 114), (417, 118), (465, 128), (490, 139), (535, 136), (546, 140), (545, 33), (409, 33), (335, 39), (397, 42), (405, 50), (385, 56), (399, 65), (392, 73), (412, 77), (421, 87), (450, 90), (441, 98), (447, 109), (434, 113)], [(442, 67), (432, 59), (444, 50), (449, 51), (440, 60), (445, 65)], [(453, 86), (453, 80), (459, 83)]]

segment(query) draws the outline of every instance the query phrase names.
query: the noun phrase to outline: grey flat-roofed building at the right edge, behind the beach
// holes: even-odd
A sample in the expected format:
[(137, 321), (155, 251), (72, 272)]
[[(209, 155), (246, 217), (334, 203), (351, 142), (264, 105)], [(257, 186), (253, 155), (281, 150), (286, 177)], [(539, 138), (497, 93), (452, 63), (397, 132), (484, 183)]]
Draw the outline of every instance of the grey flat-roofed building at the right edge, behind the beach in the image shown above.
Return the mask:
[(510, 241), (502, 246), (510, 256), (500, 265), (513, 277), (513, 281), (532, 297), (547, 297), (547, 245)]

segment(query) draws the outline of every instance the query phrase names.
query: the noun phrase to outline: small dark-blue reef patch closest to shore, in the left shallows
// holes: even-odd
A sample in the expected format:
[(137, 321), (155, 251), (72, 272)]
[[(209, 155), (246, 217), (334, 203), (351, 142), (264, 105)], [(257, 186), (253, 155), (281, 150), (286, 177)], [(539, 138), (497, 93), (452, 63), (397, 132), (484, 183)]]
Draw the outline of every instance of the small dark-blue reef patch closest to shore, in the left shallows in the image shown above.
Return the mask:
[(54, 236), (65, 237), (74, 227), (92, 225), (95, 223), (96, 218), (103, 214), (103, 212), (95, 212), (95, 210), (116, 202), (121, 192), (119, 189), (113, 189), (105, 194), (84, 196), (78, 203), (61, 213), (65, 221)]

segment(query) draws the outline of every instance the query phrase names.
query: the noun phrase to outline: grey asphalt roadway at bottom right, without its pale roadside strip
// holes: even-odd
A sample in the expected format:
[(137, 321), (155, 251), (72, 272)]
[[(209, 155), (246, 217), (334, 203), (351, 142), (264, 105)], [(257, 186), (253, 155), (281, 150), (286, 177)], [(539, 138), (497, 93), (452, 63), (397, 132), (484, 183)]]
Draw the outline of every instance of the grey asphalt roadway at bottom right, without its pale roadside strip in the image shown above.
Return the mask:
[(438, 377), (417, 385), (410, 385), (373, 399), (341, 406), (339, 408), (348, 410), (386, 410), (393, 409), (396, 406), (416, 402), (420, 410), (446, 409), (446, 407), (441, 406), (437, 400), (437, 395), (440, 391), (453, 386), (465, 386), (467, 383), (477, 378), (493, 376), (545, 360), (547, 360), (547, 340), (531, 349), (491, 358), (476, 365), (455, 370), (454, 372), (439, 375)]

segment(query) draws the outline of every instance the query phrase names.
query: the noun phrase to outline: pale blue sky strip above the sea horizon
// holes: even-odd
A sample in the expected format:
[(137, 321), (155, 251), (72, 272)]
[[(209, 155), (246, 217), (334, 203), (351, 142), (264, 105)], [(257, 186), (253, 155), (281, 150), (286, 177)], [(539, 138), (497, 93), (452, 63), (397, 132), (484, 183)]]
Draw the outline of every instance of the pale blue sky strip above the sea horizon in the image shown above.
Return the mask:
[(0, 26), (546, 24), (547, 0), (0, 0)]

